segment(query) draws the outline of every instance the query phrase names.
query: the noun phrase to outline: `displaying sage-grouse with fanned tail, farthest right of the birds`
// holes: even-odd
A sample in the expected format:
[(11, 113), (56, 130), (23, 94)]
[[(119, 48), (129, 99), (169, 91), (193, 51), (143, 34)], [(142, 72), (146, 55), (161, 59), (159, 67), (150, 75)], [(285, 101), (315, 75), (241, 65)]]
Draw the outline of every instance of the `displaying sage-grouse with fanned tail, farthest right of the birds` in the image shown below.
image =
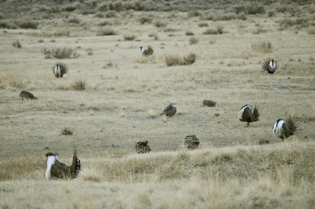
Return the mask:
[(295, 135), (298, 133), (299, 123), (296, 119), (292, 118), (291, 116), (284, 119), (277, 119), (273, 126), (273, 133), (275, 136), (279, 137), (284, 141), (284, 139)]

